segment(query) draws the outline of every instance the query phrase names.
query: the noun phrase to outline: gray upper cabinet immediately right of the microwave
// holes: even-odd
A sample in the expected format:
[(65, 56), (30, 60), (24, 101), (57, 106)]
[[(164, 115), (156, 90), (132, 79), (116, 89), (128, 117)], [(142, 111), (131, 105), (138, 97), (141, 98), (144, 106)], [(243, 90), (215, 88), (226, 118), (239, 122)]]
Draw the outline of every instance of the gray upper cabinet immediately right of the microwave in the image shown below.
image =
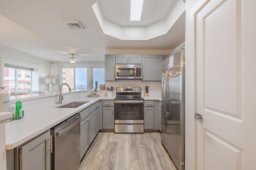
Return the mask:
[(162, 55), (142, 56), (142, 80), (161, 81), (162, 79)]

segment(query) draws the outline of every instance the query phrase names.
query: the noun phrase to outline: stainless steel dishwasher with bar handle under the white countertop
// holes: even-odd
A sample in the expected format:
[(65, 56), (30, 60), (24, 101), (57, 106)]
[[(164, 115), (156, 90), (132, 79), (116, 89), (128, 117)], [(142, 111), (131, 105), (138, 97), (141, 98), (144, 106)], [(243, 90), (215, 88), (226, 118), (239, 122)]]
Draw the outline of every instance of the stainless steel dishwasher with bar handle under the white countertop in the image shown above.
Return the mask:
[(80, 165), (80, 113), (51, 129), (51, 170), (78, 170)]

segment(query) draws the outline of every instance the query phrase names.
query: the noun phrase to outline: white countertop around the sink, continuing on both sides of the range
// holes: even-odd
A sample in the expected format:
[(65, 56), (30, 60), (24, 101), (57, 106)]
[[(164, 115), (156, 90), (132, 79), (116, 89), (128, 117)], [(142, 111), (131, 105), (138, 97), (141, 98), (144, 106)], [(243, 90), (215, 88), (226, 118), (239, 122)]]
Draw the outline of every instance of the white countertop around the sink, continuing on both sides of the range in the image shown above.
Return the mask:
[[(35, 97), (36, 96), (34, 96), (34, 98)], [(84, 108), (90, 106), (91, 104), (99, 100), (114, 100), (114, 98), (115, 96), (96, 98), (76, 98), (74, 101), (90, 102), (77, 108), (56, 108), (57, 106), (60, 106), (60, 104), (53, 104), (51, 106), (43, 107), (43, 109), (40, 108), (31, 111), (26, 111), (25, 116), (22, 119), (6, 123), (6, 149), (10, 150), (14, 149), (15, 147), (18, 147), (19, 145), (25, 143), (26, 141), (29, 141), (30, 139), (36, 137), (37, 135), (40, 135), (44, 131), (50, 130), (50, 128), (54, 127), (55, 125), (58, 125), (65, 119), (82, 111)], [(144, 100), (161, 101), (161, 97), (144, 97)], [(65, 103), (63, 103), (62, 105), (64, 104)]]

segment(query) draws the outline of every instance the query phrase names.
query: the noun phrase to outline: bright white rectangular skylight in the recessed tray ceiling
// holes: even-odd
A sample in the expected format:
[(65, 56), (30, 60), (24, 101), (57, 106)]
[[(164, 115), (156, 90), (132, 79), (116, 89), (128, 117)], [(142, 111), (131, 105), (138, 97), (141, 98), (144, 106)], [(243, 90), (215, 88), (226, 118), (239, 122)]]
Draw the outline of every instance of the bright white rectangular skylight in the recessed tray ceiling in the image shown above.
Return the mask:
[(140, 21), (144, 0), (131, 0), (130, 21)]

